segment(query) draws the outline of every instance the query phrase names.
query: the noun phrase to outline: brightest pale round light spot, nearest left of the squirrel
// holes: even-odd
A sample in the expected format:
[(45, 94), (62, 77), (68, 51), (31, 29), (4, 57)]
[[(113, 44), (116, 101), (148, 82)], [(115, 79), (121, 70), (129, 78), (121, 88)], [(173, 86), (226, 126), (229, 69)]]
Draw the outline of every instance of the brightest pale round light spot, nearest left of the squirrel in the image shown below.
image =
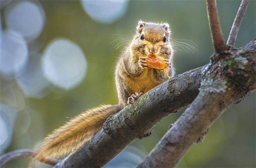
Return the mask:
[(56, 39), (44, 52), (42, 69), (51, 83), (63, 89), (71, 89), (84, 78), (87, 62), (77, 44), (68, 39)]

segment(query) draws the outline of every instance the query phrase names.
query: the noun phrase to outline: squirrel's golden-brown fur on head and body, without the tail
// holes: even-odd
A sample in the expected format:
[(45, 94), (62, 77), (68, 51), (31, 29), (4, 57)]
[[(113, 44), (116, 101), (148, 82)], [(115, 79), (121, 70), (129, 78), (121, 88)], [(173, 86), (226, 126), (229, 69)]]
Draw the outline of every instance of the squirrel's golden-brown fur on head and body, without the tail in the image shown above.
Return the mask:
[[(144, 40), (140, 36), (144, 35)], [(163, 37), (167, 37), (166, 43)], [(131, 44), (117, 62), (115, 79), (119, 104), (127, 105), (127, 98), (135, 92), (145, 93), (163, 81), (167, 80), (165, 73), (158, 69), (142, 68), (139, 65), (139, 57), (149, 55), (151, 47), (157, 47), (155, 54), (173, 61), (173, 49), (169, 41), (170, 30), (166, 23), (144, 23), (139, 21), (136, 35)], [(168, 44), (169, 43), (169, 44)], [(161, 47), (161, 45), (163, 45)], [(173, 66), (169, 68), (169, 76), (174, 75)]]

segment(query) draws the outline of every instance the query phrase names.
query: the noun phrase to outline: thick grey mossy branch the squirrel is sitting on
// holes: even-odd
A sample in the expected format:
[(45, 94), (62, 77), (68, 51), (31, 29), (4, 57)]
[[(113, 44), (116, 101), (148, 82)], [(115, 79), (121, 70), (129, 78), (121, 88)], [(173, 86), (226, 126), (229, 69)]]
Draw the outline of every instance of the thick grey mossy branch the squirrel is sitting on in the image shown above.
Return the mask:
[(110, 116), (93, 139), (55, 167), (102, 167), (133, 140), (150, 136), (159, 121), (195, 99), (201, 71), (199, 67), (177, 75)]

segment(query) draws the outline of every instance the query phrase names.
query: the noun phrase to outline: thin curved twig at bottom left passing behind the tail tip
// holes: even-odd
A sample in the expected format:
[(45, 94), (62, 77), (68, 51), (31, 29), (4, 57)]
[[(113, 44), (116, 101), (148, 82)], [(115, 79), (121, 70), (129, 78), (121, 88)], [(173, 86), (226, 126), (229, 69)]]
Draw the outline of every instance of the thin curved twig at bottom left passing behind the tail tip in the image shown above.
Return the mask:
[[(34, 157), (36, 154), (37, 152), (30, 149), (19, 149), (16, 151), (5, 153), (0, 157), (0, 167), (3, 167), (10, 160), (18, 159), (21, 157)], [(59, 161), (49, 157), (45, 157), (44, 160), (41, 160), (40, 162), (54, 166)]]

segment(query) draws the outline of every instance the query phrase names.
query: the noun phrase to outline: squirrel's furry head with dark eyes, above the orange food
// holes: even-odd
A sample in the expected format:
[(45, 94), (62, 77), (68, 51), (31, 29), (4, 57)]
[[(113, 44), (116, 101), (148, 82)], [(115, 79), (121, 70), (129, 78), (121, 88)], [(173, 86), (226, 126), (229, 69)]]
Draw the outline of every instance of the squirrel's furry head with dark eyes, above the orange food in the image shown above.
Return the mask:
[(170, 43), (170, 28), (167, 23), (148, 23), (139, 21), (130, 45), (131, 52), (136, 55), (150, 55), (152, 53), (170, 58), (173, 54)]

